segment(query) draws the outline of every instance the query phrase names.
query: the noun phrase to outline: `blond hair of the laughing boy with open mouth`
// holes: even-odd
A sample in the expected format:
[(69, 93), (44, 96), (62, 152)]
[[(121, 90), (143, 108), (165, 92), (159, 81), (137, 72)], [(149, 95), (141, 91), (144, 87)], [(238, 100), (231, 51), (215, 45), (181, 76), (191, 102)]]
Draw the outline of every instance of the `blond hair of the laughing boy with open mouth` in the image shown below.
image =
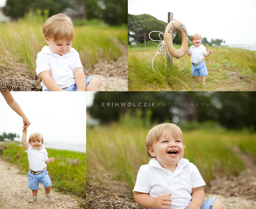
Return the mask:
[[(153, 128), (150, 129), (150, 131), (148, 132), (147, 136), (146, 136), (146, 141), (145, 141), (145, 148), (146, 148), (146, 153), (147, 156), (152, 158), (152, 156), (150, 155), (148, 148), (152, 147), (153, 144), (157, 143), (163, 132), (165, 132), (165, 130), (169, 131), (173, 138), (179, 138), (182, 141), (183, 144), (183, 137), (182, 137), (182, 132), (180, 130), (180, 128), (173, 124), (173, 123), (162, 123), (159, 125), (155, 125), (153, 126)], [(184, 146), (184, 144), (183, 144)]]

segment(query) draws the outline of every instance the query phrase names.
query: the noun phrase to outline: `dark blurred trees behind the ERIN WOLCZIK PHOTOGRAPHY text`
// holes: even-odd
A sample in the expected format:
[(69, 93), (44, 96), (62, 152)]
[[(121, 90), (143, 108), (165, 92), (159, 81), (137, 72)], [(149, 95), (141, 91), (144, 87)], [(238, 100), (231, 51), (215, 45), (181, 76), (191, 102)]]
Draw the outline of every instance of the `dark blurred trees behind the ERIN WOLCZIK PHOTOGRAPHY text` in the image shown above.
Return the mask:
[(255, 107), (255, 92), (97, 92), (88, 109), (91, 116), (101, 119), (102, 123), (118, 120), (127, 111), (133, 114), (139, 109), (142, 117), (151, 111), (151, 122), (174, 121), (178, 117), (176, 122), (180, 123), (216, 121), (230, 129), (256, 130)]

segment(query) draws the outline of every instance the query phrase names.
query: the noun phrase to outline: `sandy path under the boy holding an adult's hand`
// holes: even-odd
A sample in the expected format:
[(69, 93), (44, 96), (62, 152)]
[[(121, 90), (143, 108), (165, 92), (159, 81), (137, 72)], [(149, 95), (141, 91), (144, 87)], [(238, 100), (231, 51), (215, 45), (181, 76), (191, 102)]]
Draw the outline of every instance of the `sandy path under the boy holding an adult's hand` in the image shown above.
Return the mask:
[[(45, 196), (45, 189), (39, 183), (37, 201), (29, 202), (32, 192), (27, 188), (27, 175), (20, 175), (15, 166), (9, 166), (0, 160), (0, 208), (1, 209), (66, 209), (79, 208), (79, 203), (74, 195), (65, 195), (51, 189), (54, 201), (50, 202)], [(76, 198), (76, 199), (75, 199)]]

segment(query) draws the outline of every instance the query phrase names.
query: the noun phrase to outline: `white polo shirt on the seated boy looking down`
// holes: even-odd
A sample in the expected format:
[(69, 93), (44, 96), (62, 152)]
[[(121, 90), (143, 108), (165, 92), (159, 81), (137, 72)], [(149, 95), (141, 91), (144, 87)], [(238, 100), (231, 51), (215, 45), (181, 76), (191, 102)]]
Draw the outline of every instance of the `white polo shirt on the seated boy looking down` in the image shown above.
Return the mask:
[[(53, 53), (49, 46), (44, 46), (37, 54), (37, 68), (36, 73), (50, 70), (53, 80), (61, 87), (66, 88), (76, 84), (74, 76), (74, 68), (82, 67), (79, 53), (71, 47), (71, 50), (60, 56)], [(44, 82), (41, 82), (43, 91), (47, 89)]]

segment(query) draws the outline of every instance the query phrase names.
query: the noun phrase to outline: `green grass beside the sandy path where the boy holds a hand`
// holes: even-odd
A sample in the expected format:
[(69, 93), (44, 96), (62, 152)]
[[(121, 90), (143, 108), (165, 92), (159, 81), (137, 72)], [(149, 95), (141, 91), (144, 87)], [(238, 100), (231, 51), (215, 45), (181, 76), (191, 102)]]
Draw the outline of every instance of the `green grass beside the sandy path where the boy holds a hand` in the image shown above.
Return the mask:
[[(25, 149), (20, 143), (5, 143), (1, 158), (11, 166), (15, 164), (20, 174), (29, 172), (29, 161)], [(81, 152), (47, 149), (48, 157), (54, 162), (48, 164), (47, 170), (52, 180), (52, 188), (67, 194), (86, 197), (86, 154)]]

